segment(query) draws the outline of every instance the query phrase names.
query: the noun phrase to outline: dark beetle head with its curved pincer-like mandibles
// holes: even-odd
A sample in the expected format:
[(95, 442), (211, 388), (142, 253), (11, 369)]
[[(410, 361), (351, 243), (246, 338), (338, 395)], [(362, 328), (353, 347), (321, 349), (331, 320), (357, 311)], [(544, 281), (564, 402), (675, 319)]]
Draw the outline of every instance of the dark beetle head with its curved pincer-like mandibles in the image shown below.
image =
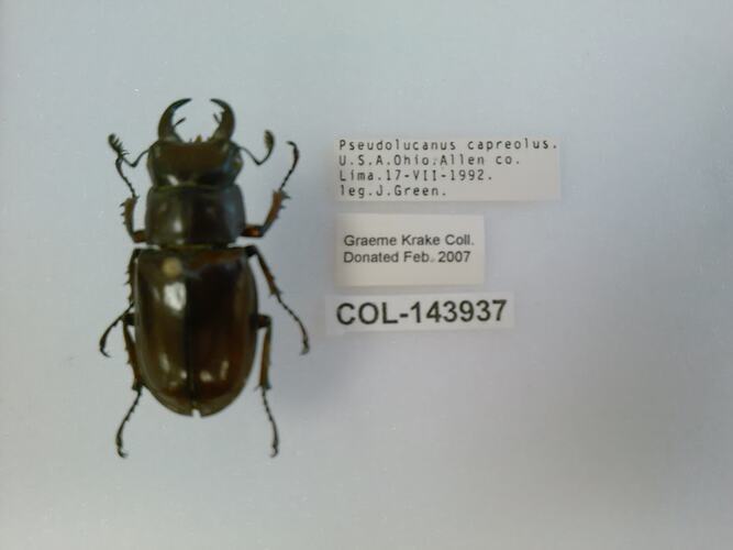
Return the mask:
[(238, 146), (232, 142), (234, 113), (221, 99), (212, 99), (222, 108), (219, 125), (207, 140), (184, 141), (174, 122), (176, 111), (190, 99), (179, 99), (168, 106), (158, 123), (158, 141), (151, 147), (147, 169), (155, 186), (203, 185), (225, 186), (234, 183), (242, 168)]

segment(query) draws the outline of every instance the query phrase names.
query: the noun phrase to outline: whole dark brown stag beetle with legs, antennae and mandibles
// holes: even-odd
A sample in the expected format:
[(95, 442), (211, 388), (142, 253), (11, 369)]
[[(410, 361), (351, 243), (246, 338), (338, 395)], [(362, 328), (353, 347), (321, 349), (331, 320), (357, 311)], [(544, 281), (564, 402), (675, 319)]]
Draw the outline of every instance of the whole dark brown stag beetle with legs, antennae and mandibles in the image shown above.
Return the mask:
[[(208, 139), (184, 141), (174, 122), (176, 111), (190, 99), (173, 102), (160, 117), (158, 139), (134, 161), (129, 161), (122, 141), (108, 138), (116, 153), (114, 165), (131, 197), (121, 206), (124, 226), (133, 243), (144, 246), (132, 252), (127, 277), (126, 309), (104, 330), (99, 350), (105, 356), (110, 331), (121, 324), (127, 361), (132, 367), (135, 398), (116, 431), (118, 454), (126, 457), (123, 430), (140, 402), (143, 388), (166, 408), (181, 415), (213, 415), (230, 405), (244, 388), (252, 371), (257, 334), (264, 330), (259, 384), (263, 404), (273, 430), (271, 455), (278, 453), (279, 437), (267, 391), (273, 338), (271, 318), (258, 310), (257, 287), (249, 260), (256, 258), (270, 295), (297, 322), (302, 353), (309, 350), (306, 327), (282, 301), (275, 277), (258, 249), (236, 245), (240, 237), (262, 238), (289, 196), (285, 185), (299, 160), (292, 164), (273, 200), (265, 221), (246, 222), (245, 204), (235, 179), (244, 165), (243, 153), (255, 165), (271, 155), (275, 140), (265, 132), (266, 153), (257, 158), (232, 141), (234, 113), (229, 105), (212, 99), (221, 113)], [(138, 196), (123, 166), (135, 168), (147, 155), (152, 186), (147, 193), (145, 228), (134, 228)], [(134, 331), (134, 337), (133, 337)]]

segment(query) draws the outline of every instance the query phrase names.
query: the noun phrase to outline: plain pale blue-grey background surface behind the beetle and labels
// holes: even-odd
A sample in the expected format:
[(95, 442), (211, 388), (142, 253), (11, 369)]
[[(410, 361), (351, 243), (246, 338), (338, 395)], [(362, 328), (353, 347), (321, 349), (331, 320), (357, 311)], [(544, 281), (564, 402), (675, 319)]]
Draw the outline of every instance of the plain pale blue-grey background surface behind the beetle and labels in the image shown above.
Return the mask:
[[(733, 544), (733, 4), (721, 1), (2, 1), (0, 547), (728, 549)], [(262, 242), (257, 395), (207, 420), (132, 399), (131, 244), (105, 136), (180, 97), (237, 140), (297, 141)], [(553, 135), (563, 199), (338, 206), (336, 136)], [(253, 219), (285, 146), (241, 178)], [(144, 170), (135, 175), (146, 186)], [(485, 213), (501, 332), (326, 338), (336, 211)], [(412, 288), (422, 292), (424, 288)], [(430, 290), (430, 289), (427, 289)]]

